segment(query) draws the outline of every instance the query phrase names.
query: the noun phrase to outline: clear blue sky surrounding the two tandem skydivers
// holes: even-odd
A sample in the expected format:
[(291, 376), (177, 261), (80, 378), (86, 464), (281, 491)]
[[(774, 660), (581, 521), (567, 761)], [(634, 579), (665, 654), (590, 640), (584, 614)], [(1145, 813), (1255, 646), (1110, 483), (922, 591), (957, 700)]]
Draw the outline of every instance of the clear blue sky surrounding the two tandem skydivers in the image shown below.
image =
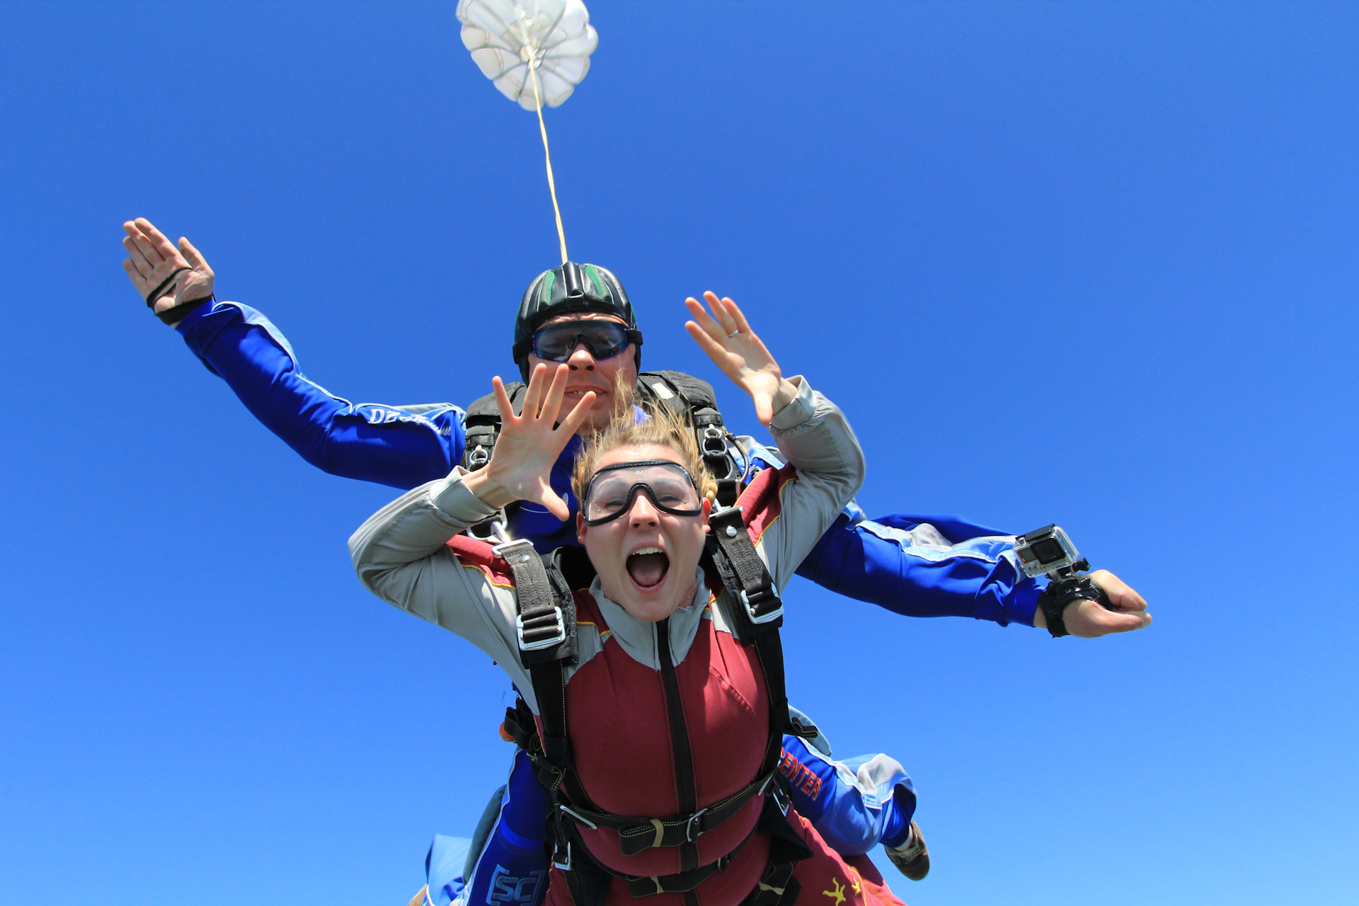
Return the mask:
[[(510, 751), (500, 671), (382, 604), (323, 475), (151, 318), (188, 235), (308, 376), (465, 403), (556, 264), (537, 124), (454, 3), (0, 10), (0, 902), (404, 903)], [(548, 111), (647, 364), (741, 302), (870, 513), (1059, 522), (1155, 623), (911, 621), (798, 580), (790, 690), (887, 751), (912, 906), (1354, 898), (1359, 12), (617, 3)], [(885, 864), (885, 863), (883, 863)]]

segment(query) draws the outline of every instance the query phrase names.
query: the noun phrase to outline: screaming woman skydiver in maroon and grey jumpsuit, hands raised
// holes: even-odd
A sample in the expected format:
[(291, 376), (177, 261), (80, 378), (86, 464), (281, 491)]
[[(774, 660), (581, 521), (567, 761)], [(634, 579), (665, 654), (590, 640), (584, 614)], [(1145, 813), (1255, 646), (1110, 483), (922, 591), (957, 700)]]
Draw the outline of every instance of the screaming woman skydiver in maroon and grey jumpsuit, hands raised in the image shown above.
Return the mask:
[[(586, 573), (557, 558), (575, 547), (548, 556), (548, 581), (529, 545), (463, 535), (516, 500), (567, 516), (550, 469), (593, 394), (557, 424), (568, 369), (549, 384), (540, 364), (519, 416), (493, 382), (503, 428), (487, 467), (397, 499), (351, 554), (370, 591), (467, 638), (523, 693), (553, 801), (550, 903), (791, 906), (806, 887), (897, 906), (866, 858), (851, 864), (788, 808), (777, 772), (777, 590), (858, 490), (863, 456), (840, 410), (783, 378), (734, 303), (707, 297), (712, 315), (686, 300), (686, 329), (790, 463), (735, 508), (713, 512), (692, 431), (658, 412), (616, 420), (576, 462)], [(553, 596), (564, 577), (587, 581)]]

